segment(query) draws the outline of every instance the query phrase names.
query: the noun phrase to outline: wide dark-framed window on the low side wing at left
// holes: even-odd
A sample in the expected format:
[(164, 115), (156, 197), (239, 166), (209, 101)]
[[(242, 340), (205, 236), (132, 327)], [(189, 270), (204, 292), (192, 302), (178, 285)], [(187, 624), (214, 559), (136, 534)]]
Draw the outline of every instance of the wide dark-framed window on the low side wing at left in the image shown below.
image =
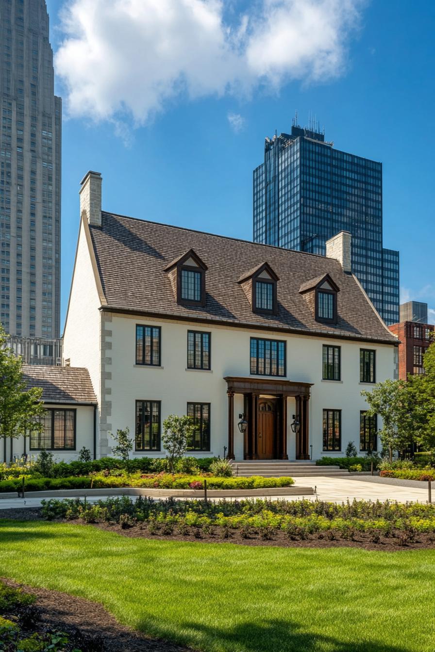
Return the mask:
[(75, 451), (76, 409), (45, 408), (41, 432), (30, 433), (30, 450)]

